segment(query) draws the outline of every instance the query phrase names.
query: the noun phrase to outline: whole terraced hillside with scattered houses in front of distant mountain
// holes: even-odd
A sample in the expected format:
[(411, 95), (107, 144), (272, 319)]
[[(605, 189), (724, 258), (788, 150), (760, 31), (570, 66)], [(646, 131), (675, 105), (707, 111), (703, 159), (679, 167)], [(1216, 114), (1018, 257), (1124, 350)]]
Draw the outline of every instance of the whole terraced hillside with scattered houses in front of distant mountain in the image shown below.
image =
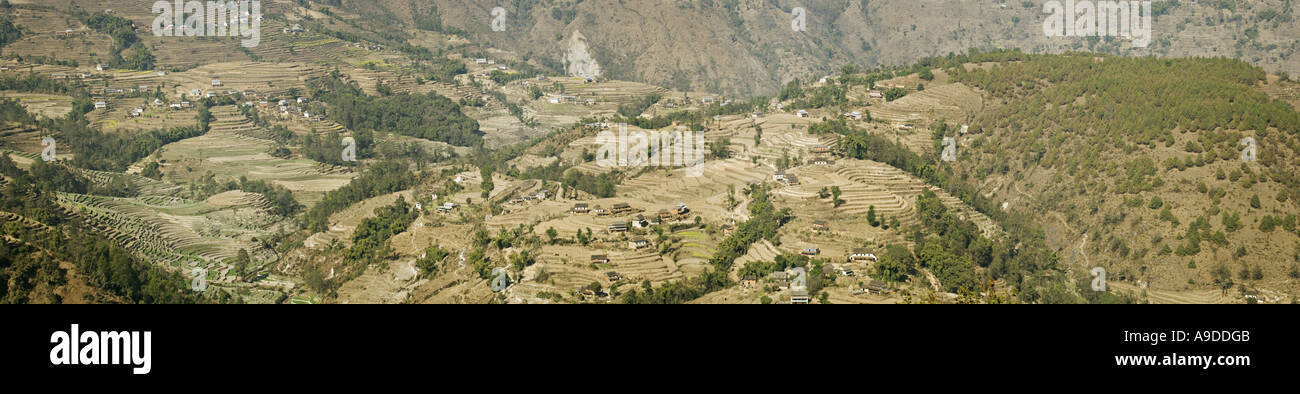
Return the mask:
[[(1166, 73), (1217, 83), (1219, 94), (1190, 100), (1236, 118), (1204, 116), (1208, 127), (1179, 124), (1113, 150), (1084, 148), (1108, 142), (1088, 134), (1071, 139), (1071, 159), (1044, 140), (1070, 138), (1053, 131), (1074, 130), (1075, 112), (1048, 124), (1023, 108), (1083, 113), (1101, 94), (1043, 99), (1087, 83), (1048, 75), (1053, 65), (1175, 65), (971, 51), (845, 62), (751, 96), (569, 74), (446, 27), (393, 39), (329, 1), (265, 1), (255, 48), (155, 36), (150, 9), (127, 3), (0, 8), (22, 33), (0, 53), (0, 221), (16, 260), (48, 264), (49, 276), (6, 287), (8, 302), (1300, 295), (1300, 189), (1287, 174), (1300, 165), (1300, 83), (1242, 61), (1178, 64), (1216, 77)], [(601, 165), (598, 135), (620, 125), (701, 133), (701, 176)], [(1261, 142), (1261, 160), (1234, 161), (1239, 137)], [(1150, 173), (1136, 159), (1147, 155)], [(1082, 161), (1096, 157), (1114, 163)], [(1201, 182), (1214, 172), (1230, 176)], [(113, 261), (78, 263), (96, 254), (60, 251), (73, 237)], [(114, 264), (129, 268), (105, 268)], [(1088, 287), (1093, 267), (1112, 272), (1110, 291)], [(208, 286), (194, 291), (198, 282)]]

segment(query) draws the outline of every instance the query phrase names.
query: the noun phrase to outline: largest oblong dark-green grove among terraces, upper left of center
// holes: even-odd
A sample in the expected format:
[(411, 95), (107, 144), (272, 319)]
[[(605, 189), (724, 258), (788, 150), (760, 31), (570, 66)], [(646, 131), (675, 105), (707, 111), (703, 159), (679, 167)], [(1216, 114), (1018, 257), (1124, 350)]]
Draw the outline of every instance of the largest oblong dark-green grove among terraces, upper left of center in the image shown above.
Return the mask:
[(312, 81), (311, 91), (313, 99), (330, 105), (330, 118), (350, 130), (394, 133), (454, 146), (482, 142), (478, 121), (462, 113), (455, 101), (434, 92), (369, 96), (355, 82), (339, 79), (337, 72)]

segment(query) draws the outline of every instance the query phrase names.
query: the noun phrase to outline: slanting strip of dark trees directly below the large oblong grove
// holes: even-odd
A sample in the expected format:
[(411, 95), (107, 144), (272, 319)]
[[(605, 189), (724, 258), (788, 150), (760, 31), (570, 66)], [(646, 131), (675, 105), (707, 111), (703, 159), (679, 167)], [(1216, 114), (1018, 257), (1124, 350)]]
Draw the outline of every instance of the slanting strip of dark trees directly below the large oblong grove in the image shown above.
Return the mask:
[(328, 230), (329, 216), (334, 212), (373, 196), (411, 189), (415, 182), (416, 178), (407, 170), (406, 164), (399, 161), (377, 163), (347, 186), (325, 194), (318, 204), (303, 215), (303, 226), (313, 233)]

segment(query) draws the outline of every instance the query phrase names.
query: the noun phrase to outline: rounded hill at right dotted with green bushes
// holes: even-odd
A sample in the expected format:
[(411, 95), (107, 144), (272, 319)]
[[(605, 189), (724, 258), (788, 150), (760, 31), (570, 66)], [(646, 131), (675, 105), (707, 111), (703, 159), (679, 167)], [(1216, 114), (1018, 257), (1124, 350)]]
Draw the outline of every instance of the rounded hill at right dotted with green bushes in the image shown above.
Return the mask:
[[(907, 79), (923, 83), (897, 87)], [(928, 134), (919, 147), (890, 140), (904, 131), (881, 137), (844, 121), (811, 131), (844, 135), (844, 156), (931, 174), (1009, 233), (1044, 241), (1076, 272), (1101, 267), (1134, 289), (1294, 294), (1295, 82), (1230, 59), (992, 52), (846, 73), (815, 88), (790, 83), (781, 96), (842, 113), (866, 105), (845, 91), (894, 86), (900, 96), (928, 100), (927, 85), (978, 88), (988, 105), (967, 117), (916, 120)], [(816, 96), (828, 99), (809, 101)], [(866, 108), (867, 118), (916, 100), (896, 103)], [(952, 163), (941, 160), (946, 138), (956, 143)], [(1022, 215), (1031, 218), (1017, 222)]]

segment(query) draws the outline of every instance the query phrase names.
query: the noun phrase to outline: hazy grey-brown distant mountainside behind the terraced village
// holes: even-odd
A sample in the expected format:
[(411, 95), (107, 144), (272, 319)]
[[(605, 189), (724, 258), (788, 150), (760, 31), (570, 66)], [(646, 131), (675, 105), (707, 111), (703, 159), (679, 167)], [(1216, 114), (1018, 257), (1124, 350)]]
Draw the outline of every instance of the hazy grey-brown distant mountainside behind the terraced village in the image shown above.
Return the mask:
[[(606, 77), (681, 91), (771, 94), (796, 77), (835, 74), (845, 64), (904, 65), (970, 48), (1226, 56), (1273, 73), (1300, 73), (1294, 39), (1300, 23), (1291, 0), (1154, 1), (1154, 39), (1147, 48), (1118, 38), (1048, 38), (1044, 3), (333, 0), (317, 7), (391, 21), (393, 35), (469, 36), (555, 70), (572, 65), (566, 56), (581, 36)], [(491, 29), (495, 7), (507, 12), (504, 31)], [(806, 10), (806, 31), (792, 29), (794, 8)]]

